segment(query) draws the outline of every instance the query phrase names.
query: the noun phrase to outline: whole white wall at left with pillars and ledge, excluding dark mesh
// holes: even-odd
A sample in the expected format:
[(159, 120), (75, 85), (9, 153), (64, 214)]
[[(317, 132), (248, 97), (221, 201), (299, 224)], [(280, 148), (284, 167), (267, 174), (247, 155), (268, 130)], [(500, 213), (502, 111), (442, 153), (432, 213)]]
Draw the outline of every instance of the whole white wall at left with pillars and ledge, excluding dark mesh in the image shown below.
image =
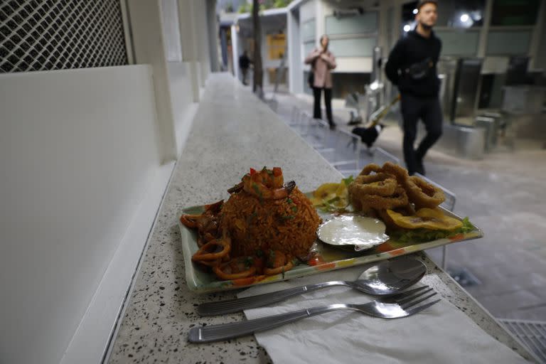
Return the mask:
[(122, 7), (139, 65), (0, 74), (0, 363), (100, 363), (193, 123), (205, 4)]

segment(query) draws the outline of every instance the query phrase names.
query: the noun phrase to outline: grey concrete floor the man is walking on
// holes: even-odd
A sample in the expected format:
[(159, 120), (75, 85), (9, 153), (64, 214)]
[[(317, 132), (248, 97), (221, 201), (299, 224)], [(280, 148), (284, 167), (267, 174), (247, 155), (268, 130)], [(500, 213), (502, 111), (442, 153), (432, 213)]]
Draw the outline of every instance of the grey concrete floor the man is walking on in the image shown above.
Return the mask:
[[(311, 97), (286, 92), (266, 99), (289, 120), (294, 106), (311, 111)], [(334, 108), (339, 103), (334, 103)], [(338, 127), (347, 112), (334, 109)], [(396, 117), (396, 116), (395, 116)], [(395, 118), (394, 117), (394, 118)], [(402, 158), (402, 132), (395, 119), (376, 146)], [(456, 194), (454, 213), (469, 216), (485, 234), (447, 249), (448, 271), (466, 269), (479, 281), (465, 289), (499, 319), (546, 321), (546, 149), (544, 141), (517, 140), (479, 161), (449, 156), (434, 148), (425, 158), (427, 177)], [(441, 248), (429, 250), (439, 264)]]

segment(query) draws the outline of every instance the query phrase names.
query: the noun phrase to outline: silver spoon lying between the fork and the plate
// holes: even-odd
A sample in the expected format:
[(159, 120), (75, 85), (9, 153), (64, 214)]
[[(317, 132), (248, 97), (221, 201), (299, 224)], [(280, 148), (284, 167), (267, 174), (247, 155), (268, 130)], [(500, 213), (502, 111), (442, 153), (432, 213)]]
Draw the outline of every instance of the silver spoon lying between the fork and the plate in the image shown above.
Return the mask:
[(347, 286), (374, 296), (395, 294), (410, 287), (427, 272), (427, 267), (417, 259), (400, 257), (384, 260), (366, 269), (355, 281), (332, 281), (307, 284), (301, 287), (274, 291), (257, 296), (228, 299), (226, 301), (207, 302), (197, 307), (201, 316), (231, 314), (245, 309), (274, 304), (292, 296), (332, 286)]

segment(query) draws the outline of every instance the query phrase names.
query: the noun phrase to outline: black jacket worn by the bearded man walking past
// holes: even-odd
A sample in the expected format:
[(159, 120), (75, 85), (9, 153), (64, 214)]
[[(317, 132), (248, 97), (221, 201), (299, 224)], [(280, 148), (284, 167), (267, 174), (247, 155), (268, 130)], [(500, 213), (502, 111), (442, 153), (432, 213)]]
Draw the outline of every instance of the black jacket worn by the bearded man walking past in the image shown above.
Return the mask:
[[(407, 36), (400, 38), (395, 48), (392, 48), (385, 73), (389, 80), (398, 86), (402, 95), (437, 96), (439, 92), (439, 79), (436, 65), (440, 56), (441, 41), (431, 33), (429, 38), (424, 38), (416, 31), (407, 32)], [(426, 75), (420, 79), (414, 79), (408, 69), (411, 65), (426, 62), (432, 67)]]

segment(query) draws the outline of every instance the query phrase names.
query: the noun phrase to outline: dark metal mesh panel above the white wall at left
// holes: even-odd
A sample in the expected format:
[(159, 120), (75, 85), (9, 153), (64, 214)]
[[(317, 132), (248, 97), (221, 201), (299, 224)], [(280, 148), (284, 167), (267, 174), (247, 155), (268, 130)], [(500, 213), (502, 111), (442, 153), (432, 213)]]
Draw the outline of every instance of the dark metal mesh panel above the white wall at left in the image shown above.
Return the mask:
[(0, 73), (127, 65), (119, 0), (1, 0)]

